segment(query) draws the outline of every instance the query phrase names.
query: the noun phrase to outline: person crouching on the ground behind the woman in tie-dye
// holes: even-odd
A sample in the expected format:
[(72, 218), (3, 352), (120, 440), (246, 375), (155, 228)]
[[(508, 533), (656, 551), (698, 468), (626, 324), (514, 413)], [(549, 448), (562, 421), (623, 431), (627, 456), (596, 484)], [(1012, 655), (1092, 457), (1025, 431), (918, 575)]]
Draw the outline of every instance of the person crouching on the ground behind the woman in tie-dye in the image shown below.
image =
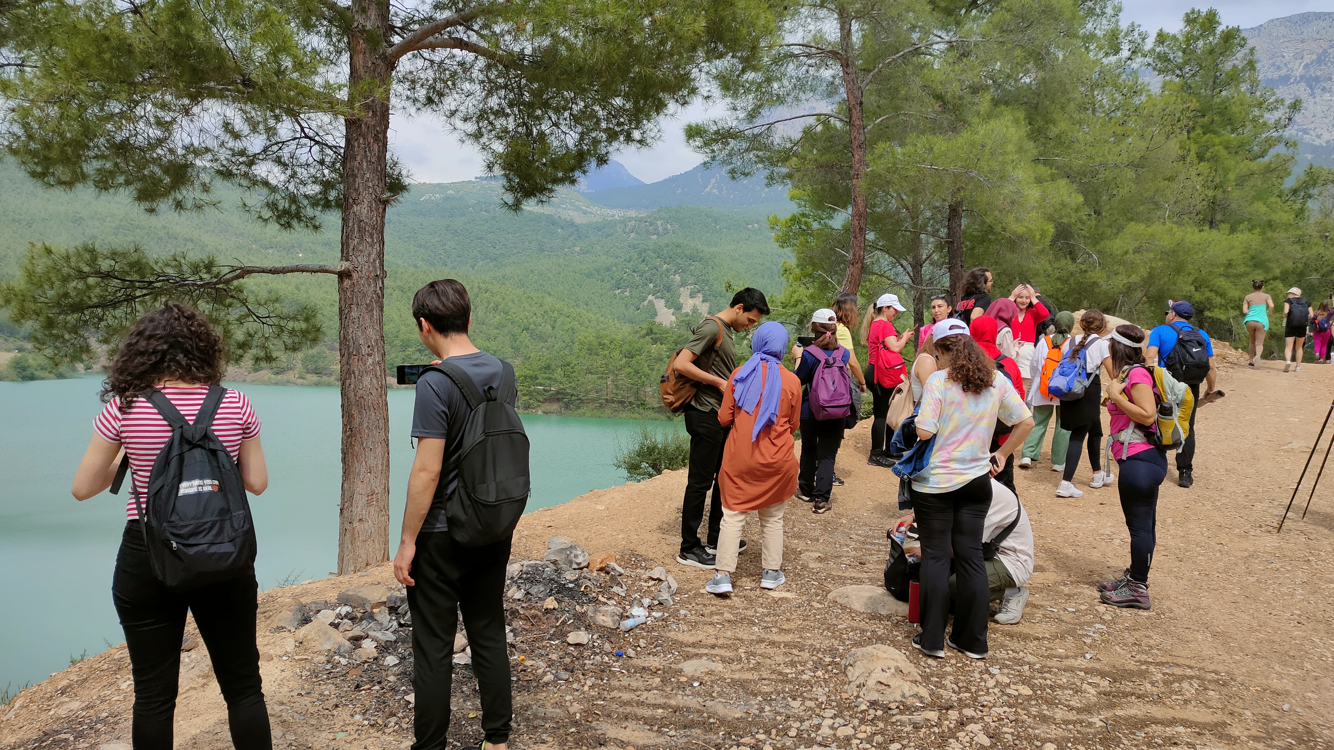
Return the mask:
[[(900, 518), (899, 523), (911, 526), (914, 516)], [(1014, 524), (1013, 527), (1010, 524)], [(1019, 498), (1009, 487), (991, 479), (991, 507), (982, 530), (983, 563), (987, 569), (987, 591), (992, 602), (1000, 602), (1000, 610), (992, 617), (1000, 625), (1015, 625), (1023, 618), (1023, 606), (1029, 603), (1029, 589), (1025, 583), (1033, 578), (1033, 523), (1019, 504)], [(903, 551), (922, 556), (920, 542), (907, 542)], [(986, 552), (992, 552), (987, 559)], [(950, 601), (958, 590), (958, 575), (950, 575)]]

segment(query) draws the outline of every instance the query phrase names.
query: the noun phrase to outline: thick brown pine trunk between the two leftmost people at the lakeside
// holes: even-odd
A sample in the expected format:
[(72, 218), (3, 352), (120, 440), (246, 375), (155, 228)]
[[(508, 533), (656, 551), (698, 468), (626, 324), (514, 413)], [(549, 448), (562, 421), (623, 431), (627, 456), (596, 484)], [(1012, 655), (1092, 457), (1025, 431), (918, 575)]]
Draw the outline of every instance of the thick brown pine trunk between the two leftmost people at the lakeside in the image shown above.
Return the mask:
[(344, 120), (343, 260), (339, 276), (339, 366), (343, 395), (343, 492), (338, 571), (356, 573), (388, 559), (390, 404), (384, 363), (384, 211), (392, 67), (387, 8), (352, 3), (350, 96)]

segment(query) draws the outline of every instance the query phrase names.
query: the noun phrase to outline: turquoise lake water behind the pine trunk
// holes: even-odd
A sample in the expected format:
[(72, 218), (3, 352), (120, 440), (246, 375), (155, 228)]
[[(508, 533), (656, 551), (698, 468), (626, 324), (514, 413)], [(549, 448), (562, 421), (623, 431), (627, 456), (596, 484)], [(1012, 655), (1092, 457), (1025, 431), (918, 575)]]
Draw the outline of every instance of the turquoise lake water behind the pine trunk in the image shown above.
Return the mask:
[[(123, 495), (79, 503), (69, 484), (92, 436), (101, 379), (0, 383), (0, 602), (11, 622), (0, 641), (0, 690), (45, 679), (72, 655), (124, 637), (111, 574), (125, 524)], [(325, 578), (338, 563), (338, 388), (241, 383), (263, 422), (268, 491), (251, 499), (260, 589)], [(411, 390), (390, 391), (390, 538), (398, 540), (412, 464)], [(532, 444), (528, 508), (623, 484), (612, 466), (639, 422), (523, 418)], [(655, 423), (670, 428), (670, 423)]]

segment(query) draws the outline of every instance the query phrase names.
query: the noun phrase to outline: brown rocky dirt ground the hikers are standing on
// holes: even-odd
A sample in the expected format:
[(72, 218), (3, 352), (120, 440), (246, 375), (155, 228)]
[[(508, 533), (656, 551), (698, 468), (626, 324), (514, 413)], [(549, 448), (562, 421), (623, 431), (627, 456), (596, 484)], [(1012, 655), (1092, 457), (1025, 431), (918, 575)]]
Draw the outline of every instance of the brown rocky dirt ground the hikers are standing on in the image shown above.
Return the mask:
[[(1195, 486), (1169, 472), (1162, 490), (1153, 611), (1101, 606), (1093, 590), (1126, 565), (1115, 484), (1058, 499), (1047, 462), (1019, 471), (1033, 598), (1019, 625), (992, 625), (984, 662), (922, 658), (915, 626), (875, 591), (898, 512), (890, 474), (862, 459), (864, 424), (839, 455), (834, 512), (788, 502), (776, 591), (759, 589), (758, 548), (730, 598), (672, 560), (684, 472), (534, 512), (506, 594), (514, 746), (1325, 747), (1334, 491), (1274, 528), (1331, 382), (1322, 366), (1225, 366), (1229, 395), (1199, 416)], [(267, 591), (260, 607), (275, 747), (410, 745), (412, 622), (388, 566)], [(635, 607), (647, 621), (623, 633)], [(480, 739), (480, 707), (466, 637), (456, 650), (460, 746)], [(177, 747), (229, 747), (192, 630), (181, 657)], [(111, 649), (0, 709), (0, 749), (128, 750), (131, 702), (125, 650)]]

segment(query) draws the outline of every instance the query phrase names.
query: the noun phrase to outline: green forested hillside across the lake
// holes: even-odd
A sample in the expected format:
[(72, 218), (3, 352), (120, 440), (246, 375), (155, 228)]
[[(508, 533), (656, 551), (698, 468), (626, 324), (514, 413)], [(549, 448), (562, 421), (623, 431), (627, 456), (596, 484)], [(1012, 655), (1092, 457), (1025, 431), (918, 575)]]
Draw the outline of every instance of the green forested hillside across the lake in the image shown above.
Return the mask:
[[(0, 164), (0, 279), (17, 272), (28, 243), (137, 244), (236, 263), (338, 260), (336, 216), (325, 231), (307, 234), (232, 210), (149, 215), (91, 191), (43, 190), (8, 164)], [(562, 191), (547, 206), (514, 214), (500, 207), (499, 185), (484, 180), (415, 185), (390, 210), (386, 247), (391, 367), (426, 358), (410, 314), (412, 294), (454, 276), (472, 294), (479, 346), (516, 363), (526, 406), (590, 414), (652, 411), (658, 372), (690, 322), (724, 306), (728, 283), (776, 296), (790, 256), (774, 244), (764, 207), (646, 212)], [(247, 283), (320, 311), (325, 344), (287, 356), (269, 372), (332, 383), (334, 278)]]

